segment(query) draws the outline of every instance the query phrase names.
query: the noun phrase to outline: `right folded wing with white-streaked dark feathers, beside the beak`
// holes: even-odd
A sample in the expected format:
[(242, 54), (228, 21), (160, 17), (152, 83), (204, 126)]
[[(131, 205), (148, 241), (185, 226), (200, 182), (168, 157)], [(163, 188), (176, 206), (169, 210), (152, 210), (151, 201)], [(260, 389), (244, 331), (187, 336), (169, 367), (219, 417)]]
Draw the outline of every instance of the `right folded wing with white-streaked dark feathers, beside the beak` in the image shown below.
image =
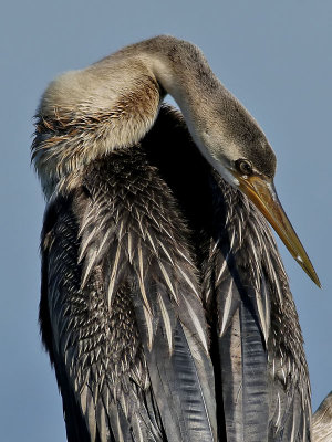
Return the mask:
[[(310, 385), (294, 303), (270, 229), (219, 178), (204, 292), (228, 441), (310, 441)], [(216, 314), (217, 313), (217, 314)]]

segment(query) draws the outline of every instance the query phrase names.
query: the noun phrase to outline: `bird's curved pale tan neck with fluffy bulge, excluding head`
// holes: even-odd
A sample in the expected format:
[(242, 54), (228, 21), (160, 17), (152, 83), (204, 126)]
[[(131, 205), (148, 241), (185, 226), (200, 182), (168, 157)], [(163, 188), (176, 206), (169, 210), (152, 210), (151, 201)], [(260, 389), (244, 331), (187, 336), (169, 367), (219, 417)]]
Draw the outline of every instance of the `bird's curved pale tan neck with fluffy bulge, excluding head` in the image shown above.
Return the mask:
[(33, 161), (46, 197), (77, 185), (84, 167), (137, 144), (166, 93), (179, 105), (198, 145), (203, 116), (224, 87), (193, 44), (158, 36), (52, 82), (39, 109)]

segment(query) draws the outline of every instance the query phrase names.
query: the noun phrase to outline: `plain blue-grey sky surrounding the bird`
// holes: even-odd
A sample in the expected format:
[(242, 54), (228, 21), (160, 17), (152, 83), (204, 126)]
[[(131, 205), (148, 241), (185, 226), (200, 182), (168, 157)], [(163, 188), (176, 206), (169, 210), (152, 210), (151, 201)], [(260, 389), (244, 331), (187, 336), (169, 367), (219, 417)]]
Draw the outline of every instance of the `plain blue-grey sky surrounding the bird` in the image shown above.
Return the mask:
[(279, 197), (323, 285), (318, 290), (280, 245), (314, 409), (332, 389), (332, 1), (12, 0), (0, 18), (2, 441), (65, 440), (38, 329), (44, 202), (29, 157), (39, 97), (61, 72), (159, 33), (203, 49), (276, 150)]

